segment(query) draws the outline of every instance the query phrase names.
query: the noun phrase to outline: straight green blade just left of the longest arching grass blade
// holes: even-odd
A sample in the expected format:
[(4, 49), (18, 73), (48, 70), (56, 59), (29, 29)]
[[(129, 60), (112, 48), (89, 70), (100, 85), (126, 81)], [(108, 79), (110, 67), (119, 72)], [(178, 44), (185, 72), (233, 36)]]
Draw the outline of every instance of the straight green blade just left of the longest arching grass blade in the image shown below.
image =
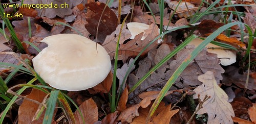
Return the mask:
[(151, 75), (152, 72), (157, 70), (161, 65), (167, 62), (170, 58), (176, 55), (182, 48), (184, 48), (191, 40), (197, 38), (195, 35), (191, 35), (188, 37), (183, 43), (181, 43), (178, 47), (174, 49), (173, 52), (169, 53), (166, 57), (164, 57), (159, 63), (157, 63), (153, 68), (151, 68), (129, 91), (129, 93), (133, 92), (143, 81), (146, 80), (147, 77)]

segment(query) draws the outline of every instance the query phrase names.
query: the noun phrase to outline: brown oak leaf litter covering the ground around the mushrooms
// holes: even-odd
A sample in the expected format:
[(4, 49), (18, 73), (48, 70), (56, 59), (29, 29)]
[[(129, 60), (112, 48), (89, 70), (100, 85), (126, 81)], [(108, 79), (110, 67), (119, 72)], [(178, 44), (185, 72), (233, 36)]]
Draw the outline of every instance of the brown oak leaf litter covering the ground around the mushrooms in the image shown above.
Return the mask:
[[(24, 1), (24, 4), (49, 4), (51, 2), (53, 1), (44, 2), (26, 0)], [(113, 82), (112, 72), (109, 73), (108, 77), (102, 83), (93, 88), (90, 88), (86, 91), (68, 92), (67, 94), (79, 106), (79, 109), (82, 112), (86, 123), (144, 123), (152, 106), (152, 102), (158, 96), (159, 91), (163, 88), (167, 80), (173, 75), (178, 66), (187, 56), (189, 56), (191, 51), (195, 49), (195, 46), (186, 46), (180, 52), (178, 52), (177, 55), (165, 62), (156, 71), (152, 72), (151, 76), (148, 77), (136, 90), (130, 94), (129, 90), (154, 65), (159, 63), (165, 56), (172, 52), (173, 49), (175, 49), (176, 46), (178, 46), (182, 40), (186, 38), (187, 32), (180, 30), (175, 31), (166, 34), (167, 36), (163, 38), (162, 42), (153, 42), (143, 52), (142, 57), (139, 58), (139, 61), (133, 65), (131, 71), (129, 72), (130, 74), (128, 78), (124, 79), (124, 75), (127, 72), (127, 68), (131, 66), (133, 58), (135, 58), (138, 53), (141, 52), (144, 46), (146, 46), (159, 35), (158, 25), (160, 24), (160, 9), (158, 8), (158, 3), (152, 2), (149, 4), (156, 18), (155, 22), (153, 15), (151, 15), (144, 8), (144, 6), (139, 6), (138, 3), (133, 6), (130, 3), (131, 1), (122, 1), (122, 19), (127, 14), (131, 14), (133, 11), (133, 15), (129, 16), (129, 19), (127, 20), (145, 23), (150, 26), (150, 28), (143, 30), (144, 33), (139, 33), (134, 37), (134, 39), (132, 39), (131, 31), (129, 31), (129, 28), (126, 27), (126, 23), (129, 21), (124, 23), (124, 27), (120, 31), (121, 24), (118, 24), (120, 22), (117, 22), (118, 1), (114, 1), (110, 7), (106, 7), (101, 19), (100, 16), (105, 7), (105, 4), (103, 3), (106, 3), (106, 1), (100, 1), (100, 3), (87, 3), (86, 1), (61, 1), (56, 2), (56, 4), (59, 5), (63, 2), (68, 3), (69, 8), (19, 8), (18, 11), (24, 13), (24, 17), (19, 19), (10, 18), (12, 19), (12, 25), (18, 39), (22, 42), (29, 41), (37, 46), (40, 50), (42, 50), (47, 47), (47, 45), (41, 43), (40, 40), (54, 34), (79, 34), (80, 32), (84, 37), (88, 37), (92, 40), (96, 40), (97, 36), (97, 42), (99, 42), (106, 49), (111, 59), (120, 60), (118, 63), (121, 66), (117, 69), (117, 79), (119, 83), (117, 84), (118, 89), (116, 90), (120, 91), (120, 89), (122, 89), (123, 92), (117, 104), (116, 112), (111, 113), (109, 108), (108, 93), (111, 90)], [(183, 17), (189, 17), (190, 15), (193, 15), (199, 9), (198, 5), (201, 3), (201, 1), (181, 2), (181, 5), (178, 7), (178, 11), (175, 13), (177, 15), (172, 18), (172, 22), (170, 23), (169, 17), (173, 14), (172, 10), (176, 8), (178, 3), (172, 1), (166, 1), (166, 3), (168, 6), (164, 8), (163, 25), (169, 27), (179, 27), (189, 24), (189, 21)], [(255, 3), (249, 4), (255, 5)], [(243, 21), (247, 23), (248, 26), (251, 27), (251, 29), (254, 31), (255, 19), (253, 15), (255, 15), (255, 11), (250, 7), (244, 8), (247, 10), (247, 12), (245, 13)], [(200, 12), (204, 9), (206, 8), (203, 7)], [(5, 10), (7, 11), (7, 9)], [(8, 11), (11, 12), (13, 10), (10, 9)], [(27, 28), (29, 26), (28, 17), (30, 18), (31, 37), (28, 34), (29, 30)], [(208, 18), (204, 19), (205, 17)], [(211, 33), (215, 32), (224, 25), (224, 23), (220, 22), (219, 20), (220, 19), (218, 19), (218, 16), (214, 18), (214, 15), (211, 14), (203, 16), (200, 20), (200, 24), (196, 26), (198, 29), (194, 33), (199, 36), (209, 36)], [(67, 26), (56, 24), (56, 22), (68, 24), (76, 30)], [(97, 32), (96, 29), (98, 23), (100, 25)], [(238, 27), (231, 27), (231, 29), (240, 30)], [(10, 37), (8, 29), (4, 29), (4, 31), (6, 36)], [(248, 32), (247, 30), (244, 31)], [(120, 32), (120, 42), (119, 44), (116, 44)], [(181, 32), (183, 32), (182, 35)], [(17, 52), (12, 40), (9, 40), (3, 34), (0, 34), (0, 36), (1, 52)], [(234, 31), (231, 31), (230, 37), (222, 33), (215, 40), (230, 44), (239, 50), (246, 49), (248, 46), (247, 39), (242, 43), (240, 41), (241, 34)], [(252, 49), (255, 48), (254, 44), (252, 45)], [(19, 54), (19, 56), (21, 56), (23, 59), (27, 58), (28, 60), (31, 60), (33, 56), (38, 54), (38, 52), (31, 45), (23, 42), (23, 46), (27, 55), (19, 54), (17, 52), (17, 54)], [(118, 58), (114, 58), (116, 46), (119, 48)], [(236, 56), (236, 53), (233, 53)], [(241, 56), (244, 56), (244, 54), (245, 53), (242, 51)], [(20, 64), (17, 59), (12, 56), (1, 54), (1, 58), (1, 62), (12, 63), (16, 65)], [(255, 53), (252, 52), (251, 62), (255, 61), (255, 58)], [(199, 55), (191, 63), (189, 63), (185, 70), (180, 74), (177, 81), (175, 81), (174, 85), (165, 95), (163, 102), (160, 103), (160, 106), (150, 119), (149, 123), (169, 123), (181, 121), (183, 121), (183, 123), (188, 122), (189, 117), (191, 117), (195, 111), (191, 111), (193, 110), (193, 107), (189, 105), (191, 104), (191, 97), (193, 98), (193, 94), (195, 94), (188, 93), (192, 91), (191, 89), (194, 89), (194, 91), (197, 94), (199, 93), (201, 97), (204, 97), (206, 94), (210, 96), (210, 98), (205, 101), (205, 103), (203, 103), (203, 108), (197, 111), (198, 115), (208, 117), (207, 123), (255, 123), (255, 104), (251, 102), (255, 100), (256, 89), (256, 76), (254, 74), (255, 72), (253, 72), (253, 68), (251, 70), (247, 70), (249, 72), (241, 72), (241, 69), (236, 65), (237, 62), (231, 66), (221, 66), (219, 59), (221, 59), (219, 54), (217, 58), (216, 54), (208, 53), (207, 49), (204, 49), (202, 52), (200, 52)], [(240, 58), (237, 58), (235, 60), (239, 59)], [(248, 61), (249, 60), (247, 60), (247, 62)], [(1, 68), (1, 76), (5, 78), (6, 73), (9, 74), (11, 71), (12, 68)], [(249, 73), (248, 80), (247, 73)], [(25, 75), (25, 77), (28, 77), (23, 72), (19, 72), (14, 76), (15, 79), (11, 80), (11, 85), (8, 84), (8, 87), (17, 84), (17, 82), (20, 82), (16, 80), (24, 80), (20, 79), (19, 75)], [(23, 82), (28, 81), (28, 79), (25, 80), (26, 81)], [(123, 80), (125, 80), (125, 84), (123, 87), (120, 87), (120, 84)], [(245, 82), (248, 82), (248, 85), (246, 85)], [(244, 93), (247, 97), (241, 97), (243, 88), (245, 87), (247, 87), (247, 91)], [(225, 89), (225, 92), (222, 89)], [(40, 93), (39, 90), (33, 89), (26, 97), (44, 104), (43, 100), (46, 94), (42, 94), (44, 93)], [(194, 95), (194, 98), (197, 98), (197, 94)], [(201, 98), (201, 100), (202, 99), (203, 98)], [(228, 103), (227, 101), (232, 102)], [(178, 104), (176, 105), (177, 102)], [(198, 104), (197, 100), (195, 100), (195, 102)], [(38, 104), (28, 101), (27, 99), (23, 100), (22, 105), (17, 109), (18, 113), (16, 115), (18, 115), (18, 122), (32, 122), (34, 113), (36, 113), (38, 110), (38, 106)], [(59, 109), (55, 108), (54, 116), (56, 113), (59, 114), (57, 110)], [(183, 114), (181, 115), (180, 113)], [(39, 120), (33, 120), (33, 122), (42, 122), (43, 115), (44, 113), (41, 114), (42, 117), (39, 117)], [(15, 114), (9, 116), (15, 117)], [(81, 116), (77, 110), (74, 112), (74, 116), (78, 123), (82, 123)], [(68, 117), (64, 117), (64, 119), (62, 118), (61, 121), (64, 122), (65, 118), (67, 119)], [(204, 119), (203, 117), (201, 117), (201, 120), (200, 117), (199, 119), (196, 118), (197, 117), (194, 117), (191, 122), (202, 123), (202, 120)], [(58, 120), (57, 122), (59, 122), (57, 115), (55, 116), (55, 119), (53, 119), (53, 122), (55, 122), (55, 120)], [(10, 120), (10, 122), (12, 122), (12, 120)]]

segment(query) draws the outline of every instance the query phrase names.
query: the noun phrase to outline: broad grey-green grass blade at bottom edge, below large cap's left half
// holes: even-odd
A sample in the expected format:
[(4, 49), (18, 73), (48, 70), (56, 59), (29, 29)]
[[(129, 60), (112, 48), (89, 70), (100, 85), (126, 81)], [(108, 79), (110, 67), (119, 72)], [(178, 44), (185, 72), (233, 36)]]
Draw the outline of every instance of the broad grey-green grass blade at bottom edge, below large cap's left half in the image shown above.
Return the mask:
[(52, 123), (53, 113), (55, 110), (57, 98), (58, 98), (59, 90), (53, 90), (51, 91), (51, 95), (49, 97), (49, 100), (47, 101), (47, 109), (45, 113), (45, 117), (42, 123)]

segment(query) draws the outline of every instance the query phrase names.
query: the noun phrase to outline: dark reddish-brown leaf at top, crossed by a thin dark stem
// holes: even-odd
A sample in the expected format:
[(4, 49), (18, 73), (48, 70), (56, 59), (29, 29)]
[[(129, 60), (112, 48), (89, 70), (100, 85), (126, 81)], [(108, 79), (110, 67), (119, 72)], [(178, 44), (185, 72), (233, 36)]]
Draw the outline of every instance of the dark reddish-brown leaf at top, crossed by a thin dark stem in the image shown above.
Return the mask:
[[(97, 26), (100, 20), (101, 13), (105, 7), (104, 3), (97, 4), (96, 2), (90, 2), (86, 4), (88, 8), (86, 29), (94, 36), (97, 34)], [(90, 11), (89, 11), (90, 10)], [(114, 11), (109, 7), (106, 7), (102, 14), (99, 29), (98, 29), (98, 40), (103, 42), (107, 35), (111, 35), (117, 27), (117, 16)]]

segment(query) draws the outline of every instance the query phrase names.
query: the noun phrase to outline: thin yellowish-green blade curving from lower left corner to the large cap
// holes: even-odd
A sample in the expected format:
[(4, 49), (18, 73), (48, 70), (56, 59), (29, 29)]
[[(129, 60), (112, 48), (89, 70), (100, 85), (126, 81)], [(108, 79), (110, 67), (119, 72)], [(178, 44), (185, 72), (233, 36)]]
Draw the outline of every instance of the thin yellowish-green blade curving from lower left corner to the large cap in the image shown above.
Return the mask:
[[(27, 84), (32, 84), (34, 81), (36, 81), (36, 78), (33, 78), (32, 80), (30, 80)], [(17, 94), (20, 95), (26, 88), (28, 88), (28, 87), (23, 87), (23, 88), (21, 88), (21, 89), (17, 92)], [(10, 108), (12, 107), (12, 105), (14, 104), (14, 102), (16, 101), (17, 98), (18, 98), (18, 96), (15, 95), (15, 96), (12, 98), (12, 100), (10, 101), (10, 103), (6, 106), (6, 109), (1, 113), (2, 115), (1, 115), (1, 118), (0, 118), (0, 123), (3, 123), (4, 118), (5, 118), (6, 114), (7, 114), (7, 112), (10, 110)]]

